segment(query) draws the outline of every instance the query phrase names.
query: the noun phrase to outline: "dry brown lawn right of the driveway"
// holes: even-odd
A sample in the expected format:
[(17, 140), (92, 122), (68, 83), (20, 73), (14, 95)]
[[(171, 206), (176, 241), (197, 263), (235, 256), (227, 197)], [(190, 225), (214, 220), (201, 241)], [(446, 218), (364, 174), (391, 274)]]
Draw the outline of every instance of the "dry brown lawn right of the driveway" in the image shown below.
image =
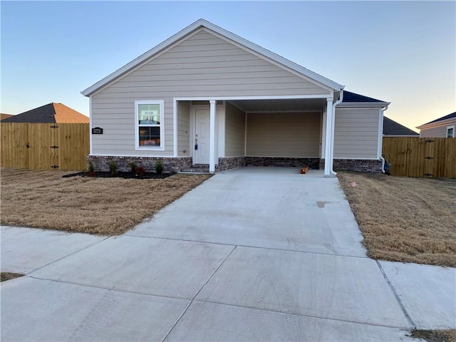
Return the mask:
[(359, 172), (338, 179), (369, 257), (456, 267), (456, 180)]

